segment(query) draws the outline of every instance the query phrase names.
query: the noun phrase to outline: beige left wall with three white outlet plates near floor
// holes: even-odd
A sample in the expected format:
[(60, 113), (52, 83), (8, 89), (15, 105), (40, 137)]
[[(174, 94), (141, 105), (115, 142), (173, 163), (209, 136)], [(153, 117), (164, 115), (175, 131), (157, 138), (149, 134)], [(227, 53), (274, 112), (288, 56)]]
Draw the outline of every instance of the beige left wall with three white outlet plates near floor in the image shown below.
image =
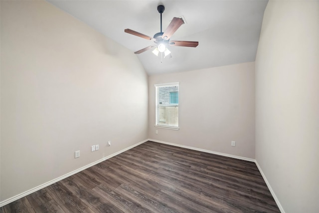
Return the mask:
[(46, 1), (0, 2), (0, 201), (148, 138), (134, 53)]

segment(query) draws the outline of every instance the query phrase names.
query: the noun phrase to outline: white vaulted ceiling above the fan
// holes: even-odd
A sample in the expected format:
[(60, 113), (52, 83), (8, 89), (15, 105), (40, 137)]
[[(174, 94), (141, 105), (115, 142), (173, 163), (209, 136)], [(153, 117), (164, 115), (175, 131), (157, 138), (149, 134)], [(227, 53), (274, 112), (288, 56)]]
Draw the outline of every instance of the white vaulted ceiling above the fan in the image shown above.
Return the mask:
[(197, 47), (170, 46), (172, 58), (160, 62), (152, 51), (138, 54), (148, 74), (180, 72), (255, 61), (268, 0), (47, 0), (99, 32), (135, 51), (153, 44), (124, 32), (154, 36), (173, 17), (186, 21), (170, 40), (198, 41)]

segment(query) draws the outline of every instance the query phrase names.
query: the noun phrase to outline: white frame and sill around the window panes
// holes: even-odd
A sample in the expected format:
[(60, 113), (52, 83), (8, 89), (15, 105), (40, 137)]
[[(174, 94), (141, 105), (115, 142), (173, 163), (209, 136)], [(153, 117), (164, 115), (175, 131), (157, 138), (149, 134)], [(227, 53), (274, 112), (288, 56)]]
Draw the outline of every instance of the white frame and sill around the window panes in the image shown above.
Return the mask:
[[(155, 125), (154, 126), (157, 127), (157, 128), (163, 128), (163, 129), (179, 130), (179, 82), (155, 84), (154, 86), (155, 86)], [(178, 87), (178, 90), (177, 90), (178, 103), (163, 104), (161, 106), (177, 106), (178, 107), (178, 111), (177, 111), (177, 119), (178, 119), (177, 127), (169, 126), (169, 125), (160, 125), (159, 124), (159, 113), (158, 113), (159, 100), (158, 100), (158, 92), (157, 91), (158, 91), (159, 87), (168, 87), (168, 86), (177, 86)]]

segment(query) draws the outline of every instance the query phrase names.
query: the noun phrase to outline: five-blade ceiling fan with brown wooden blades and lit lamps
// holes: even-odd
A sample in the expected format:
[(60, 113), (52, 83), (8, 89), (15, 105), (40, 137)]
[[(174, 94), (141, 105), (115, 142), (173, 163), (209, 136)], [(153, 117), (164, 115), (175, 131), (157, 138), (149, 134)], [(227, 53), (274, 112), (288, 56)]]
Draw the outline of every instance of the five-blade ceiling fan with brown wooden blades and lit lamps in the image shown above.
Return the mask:
[(161, 27), (161, 14), (164, 12), (165, 7), (163, 5), (158, 6), (158, 11), (160, 12), (160, 32), (156, 33), (153, 37), (142, 34), (140, 32), (134, 31), (132, 29), (125, 29), (126, 33), (130, 33), (132, 35), (136, 35), (148, 40), (154, 41), (155, 44), (140, 49), (135, 54), (140, 54), (150, 49), (154, 49), (153, 53), (158, 55), (159, 52), (164, 53), (164, 57), (170, 55), (170, 51), (167, 49), (168, 46), (186, 46), (186, 47), (196, 47), (198, 45), (198, 41), (170, 41), (169, 38), (172, 34), (184, 23), (182, 18), (174, 17), (169, 25), (167, 26), (166, 30), (162, 32)]

